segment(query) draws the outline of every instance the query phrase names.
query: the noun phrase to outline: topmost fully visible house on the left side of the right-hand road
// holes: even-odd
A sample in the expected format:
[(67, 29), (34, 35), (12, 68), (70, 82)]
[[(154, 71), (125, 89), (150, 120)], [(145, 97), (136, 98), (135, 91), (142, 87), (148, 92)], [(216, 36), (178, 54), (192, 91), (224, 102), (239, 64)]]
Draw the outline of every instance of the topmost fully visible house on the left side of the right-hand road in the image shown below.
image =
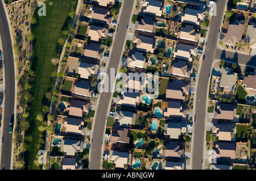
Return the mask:
[(187, 8), (181, 17), (182, 23), (199, 25), (205, 19), (205, 11)]

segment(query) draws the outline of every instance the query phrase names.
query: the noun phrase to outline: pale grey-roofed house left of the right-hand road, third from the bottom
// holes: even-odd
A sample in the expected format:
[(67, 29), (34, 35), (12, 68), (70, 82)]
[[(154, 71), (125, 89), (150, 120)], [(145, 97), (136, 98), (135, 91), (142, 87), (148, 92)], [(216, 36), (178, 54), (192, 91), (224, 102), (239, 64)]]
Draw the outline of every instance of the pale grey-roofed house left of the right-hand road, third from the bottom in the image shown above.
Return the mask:
[(181, 133), (187, 133), (187, 123), (172, 121), (164, 124), (164, 130), (171, 139), (180, 139)]

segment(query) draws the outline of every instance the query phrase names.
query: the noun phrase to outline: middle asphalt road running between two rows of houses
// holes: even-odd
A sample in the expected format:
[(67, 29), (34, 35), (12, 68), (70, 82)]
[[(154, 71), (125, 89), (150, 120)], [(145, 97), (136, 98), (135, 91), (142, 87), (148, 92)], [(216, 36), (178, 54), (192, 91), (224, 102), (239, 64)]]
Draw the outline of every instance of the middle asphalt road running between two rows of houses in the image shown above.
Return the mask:
[[(125, 0), (122, 3), (123, 9), (121, 16), (119, 18), (119, 27), (115, 35), (115, 40), (113, 43), (112, 53), (110, 55), (110, 61), (106, 73), (110, 77), (110, 68), (114, 68), (117, 72), (119, 61), (122, 56), (123, 45), (126, 40), (127, 25), (130, 23), (131, 14), (133, 13), (134, 0)], [(109, 81), (110, 82), (110, 81)], [(110, 86), (109, 86), (110, 87)], [(92, 146), (90, 149), (90, 170), (100, 170), (101, 169), (101, 159), (102, 159), (102, 146), (101, 142), (105, 134), (105, 121), (108, 113), (108, 107), (110, 103), (110, 98), (112, 92), (101, 93), (100, 102), (98, 103), (98, 108), (96, 111), (96, 118), (93, 123), (93, 134), (92, 134)]]

